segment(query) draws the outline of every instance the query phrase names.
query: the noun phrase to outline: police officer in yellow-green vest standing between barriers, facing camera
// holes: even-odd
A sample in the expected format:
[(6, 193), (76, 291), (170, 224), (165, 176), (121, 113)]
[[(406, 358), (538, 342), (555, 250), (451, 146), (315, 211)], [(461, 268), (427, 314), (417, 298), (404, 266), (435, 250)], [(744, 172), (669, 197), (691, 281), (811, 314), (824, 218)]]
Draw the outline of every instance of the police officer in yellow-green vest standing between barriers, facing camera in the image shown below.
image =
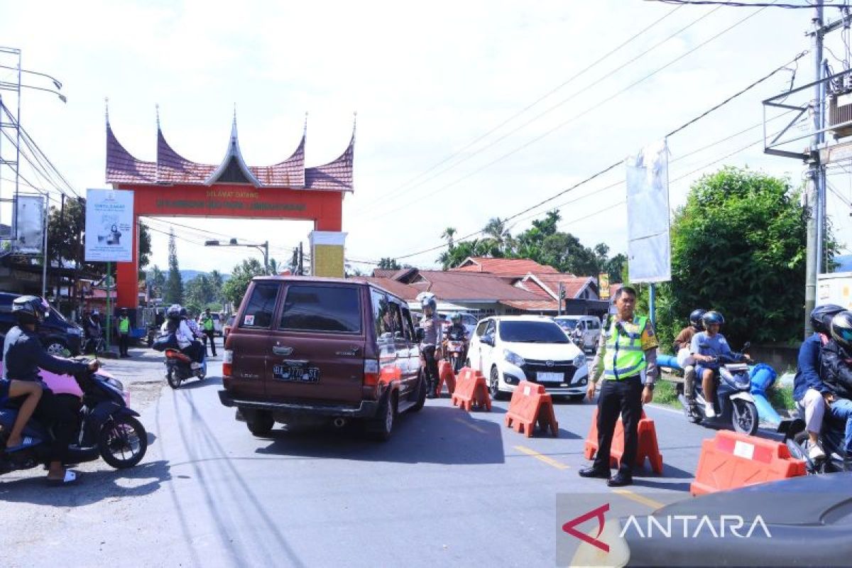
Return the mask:
[[(617, 313), (609, 329), (601, 335), (587, 391), (589, 399), (594, 399), (597, 382), (603, 376), (597, 401), (598, 450), (591, 468), (581, 469), (579, 474), (607, 479), (610, 487), (621, 487), (633, 483), (642, 404), (653, 399), (653, 382), (659, 376), (658, 343), (648, 318), (634, 314), (636, 290), (622, 286), (613, 301)], [(610, 478), (609, 450), (619, 414), (625, 427), (625, 453), (619, 473)]]

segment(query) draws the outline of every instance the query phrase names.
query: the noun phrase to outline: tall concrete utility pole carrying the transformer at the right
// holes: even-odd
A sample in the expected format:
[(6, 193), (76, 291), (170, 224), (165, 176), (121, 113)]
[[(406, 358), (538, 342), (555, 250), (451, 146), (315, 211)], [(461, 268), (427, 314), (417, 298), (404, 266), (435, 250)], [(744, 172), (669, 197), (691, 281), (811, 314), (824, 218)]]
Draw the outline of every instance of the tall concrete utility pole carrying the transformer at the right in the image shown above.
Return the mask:
[(826, 169), (820, 164), (820, 145), (825, 141), (823, 129), (822, 106), (825, 102), (824, 85), (822, 83), (822, 39), (826, 33), (822, 18), (822, 5), (815, 7), (813, 32), (811, 32), (811, 49), (814, 55), (814, 135), (810, 144), (810, 159), (808, 169), (808, 226), (807, 226), (807, 255), (804, 288), (804, 336), (810, 336), (813, 329), (810, 325), (810, 313), (816, 305), (816, 278), (822, 265), (822, 242), (825, 227), (825, 199), (823, 187)]

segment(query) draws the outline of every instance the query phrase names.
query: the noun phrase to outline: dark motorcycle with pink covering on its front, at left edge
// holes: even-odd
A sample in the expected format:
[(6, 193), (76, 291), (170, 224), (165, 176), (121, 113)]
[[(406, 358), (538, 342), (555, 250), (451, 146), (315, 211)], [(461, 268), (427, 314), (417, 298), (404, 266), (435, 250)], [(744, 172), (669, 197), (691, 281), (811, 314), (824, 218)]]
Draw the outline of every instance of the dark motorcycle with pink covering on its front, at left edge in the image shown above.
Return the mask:
[[(147, 451), (148, 435), (137, 420), (139, 414), (128, 406), (130, 397), (124, 392), (124, 385), (103, 370), (75, 376), (73, 381), (79, 391), (55, 387), (55, 383), (45, 379), (56, 396), (79, 409), (80, 420), (74, 434), (76, 442), (68, 446), (67, 464), (93, 462), (98, 456), (117, 469), (132, 468), (139, 463)], [(78, 392), (82, 397), (76, 394)], [(11, 429), (17, 414), (16, 401), (10, 400), (0, 406), (0, 425), (4, 430)], [(36, 439), (36, 444), (12, 452), (6, 451), (6, 437), (0, 436), (0, 474), (47, 465), (50, 433), (31, 420), (24, 434)]]

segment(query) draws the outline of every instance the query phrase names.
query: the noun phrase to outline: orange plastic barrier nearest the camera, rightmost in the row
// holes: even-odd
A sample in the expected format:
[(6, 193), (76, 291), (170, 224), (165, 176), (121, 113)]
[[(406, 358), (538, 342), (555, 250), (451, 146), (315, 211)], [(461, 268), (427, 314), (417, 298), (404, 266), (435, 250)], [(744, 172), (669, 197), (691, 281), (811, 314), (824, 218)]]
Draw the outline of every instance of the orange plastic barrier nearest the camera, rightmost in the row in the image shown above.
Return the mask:
[(787, 446), (771, 439), (722, 430), (701, 443), (693, 495), (756, 485), (806, 473), (804, 460), (790, 455)]

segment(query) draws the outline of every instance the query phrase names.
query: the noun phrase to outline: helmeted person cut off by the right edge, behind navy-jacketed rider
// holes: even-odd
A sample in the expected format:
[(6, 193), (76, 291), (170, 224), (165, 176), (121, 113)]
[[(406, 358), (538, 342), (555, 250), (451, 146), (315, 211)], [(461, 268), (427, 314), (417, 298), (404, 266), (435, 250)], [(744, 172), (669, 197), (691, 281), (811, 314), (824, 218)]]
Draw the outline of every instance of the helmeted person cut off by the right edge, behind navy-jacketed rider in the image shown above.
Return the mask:
[(832, 339), (822, 347), (821, 377), (829, 392), (823, 395), (828, 414), (844, 425), (843, 469), (852, 471), (852, 312), (832, 318)]

